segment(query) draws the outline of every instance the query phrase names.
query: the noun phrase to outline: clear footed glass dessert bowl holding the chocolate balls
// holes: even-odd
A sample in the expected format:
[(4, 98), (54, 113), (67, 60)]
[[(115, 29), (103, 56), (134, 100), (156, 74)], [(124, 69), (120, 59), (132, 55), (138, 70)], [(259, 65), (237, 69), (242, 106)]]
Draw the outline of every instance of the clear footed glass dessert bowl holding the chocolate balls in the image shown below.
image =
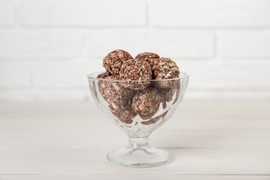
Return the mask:
[(98, 75), (87, 75), (91, 95), (98, 108), (129, 137), (127, 147), (109, 152), (107, 160), (136, 168), (170, 162), (170, 153), (150, 146), (148, 137), (174, 114), (188, 86), (188, 74), (181, 72), (179, 78), (168, 80), (96, 78)]

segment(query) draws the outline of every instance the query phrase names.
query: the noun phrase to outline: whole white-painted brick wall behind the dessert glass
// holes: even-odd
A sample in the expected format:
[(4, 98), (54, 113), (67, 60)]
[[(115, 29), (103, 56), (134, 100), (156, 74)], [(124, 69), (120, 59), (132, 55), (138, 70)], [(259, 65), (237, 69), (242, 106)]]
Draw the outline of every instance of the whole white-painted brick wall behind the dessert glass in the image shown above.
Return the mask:
[(116, 48), (172, 57), (187, 99), (270, 99), (270, 0), (0, 0), (0, 100), (91, 100)]

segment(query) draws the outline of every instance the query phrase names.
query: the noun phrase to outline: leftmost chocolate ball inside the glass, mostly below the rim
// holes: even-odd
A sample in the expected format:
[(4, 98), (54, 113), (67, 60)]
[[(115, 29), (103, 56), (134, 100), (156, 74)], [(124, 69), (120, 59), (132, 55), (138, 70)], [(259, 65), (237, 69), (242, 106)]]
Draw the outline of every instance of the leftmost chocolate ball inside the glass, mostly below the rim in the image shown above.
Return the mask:
[(105, 79), (107, 80), (103, 80), (99, 87), (102, 97), (107, 100), (107, 102), (123, 104), (128, 98), (133, 96), (131, 89), (124, 88), (120, 85), (120, 82), (114, 81), (120, 80), (119, 75), (111, 75)]

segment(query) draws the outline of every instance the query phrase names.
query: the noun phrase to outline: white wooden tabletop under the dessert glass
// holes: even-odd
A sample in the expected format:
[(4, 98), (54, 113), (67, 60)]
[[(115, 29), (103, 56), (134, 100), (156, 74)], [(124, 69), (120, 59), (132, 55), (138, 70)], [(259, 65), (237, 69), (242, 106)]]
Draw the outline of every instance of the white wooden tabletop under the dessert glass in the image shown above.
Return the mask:
[(0, 179), (270, 179), (270, 102), (186, 102), (150, 136), (174, 160), (108, 163), (127, 136), (93, 102), (0, 102)]

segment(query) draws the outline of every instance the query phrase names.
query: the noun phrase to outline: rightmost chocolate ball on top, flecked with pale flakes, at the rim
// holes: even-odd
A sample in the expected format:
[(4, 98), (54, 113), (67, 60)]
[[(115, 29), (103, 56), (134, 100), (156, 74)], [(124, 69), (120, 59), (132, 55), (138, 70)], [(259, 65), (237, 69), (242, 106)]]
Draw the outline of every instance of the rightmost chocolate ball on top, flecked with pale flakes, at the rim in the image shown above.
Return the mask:
[(179, 68), (177, 64), (170, 60), (170, 58), (161, 57), (159, 60), (154, 61), (152, 66), (154, 80), (165, 80), (156, 82), (157, 87), (170, 88), (175, 87), (175, 81), (168, 81), (168, 79), (179, 78)]

